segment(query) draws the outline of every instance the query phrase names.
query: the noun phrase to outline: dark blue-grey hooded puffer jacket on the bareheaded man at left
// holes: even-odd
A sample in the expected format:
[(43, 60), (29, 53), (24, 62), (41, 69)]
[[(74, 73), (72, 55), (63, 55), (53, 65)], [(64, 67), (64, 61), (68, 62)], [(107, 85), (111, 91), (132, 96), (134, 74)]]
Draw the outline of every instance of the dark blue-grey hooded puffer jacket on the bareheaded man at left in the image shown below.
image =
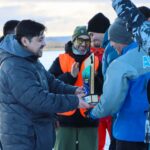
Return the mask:
[(0, 43), (0, 142), (5, 150), (52, 150), (55, 113), (78, 106), (76, 87), (54, 79), (14, 36)]

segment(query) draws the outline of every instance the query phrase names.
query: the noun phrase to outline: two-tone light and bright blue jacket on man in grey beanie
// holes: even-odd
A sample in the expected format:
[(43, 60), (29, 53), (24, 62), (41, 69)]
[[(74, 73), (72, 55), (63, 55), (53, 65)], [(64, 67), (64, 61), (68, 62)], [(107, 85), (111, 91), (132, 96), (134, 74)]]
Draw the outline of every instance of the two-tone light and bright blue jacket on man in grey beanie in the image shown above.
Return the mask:
[(135, 48), (110, 64), (101, 100), (91, 112), (94, 118), (117, 114), (113, 135), (118, 140), (144, 141), (150, 79), (150, 67), (143, 66), (145, 56)]

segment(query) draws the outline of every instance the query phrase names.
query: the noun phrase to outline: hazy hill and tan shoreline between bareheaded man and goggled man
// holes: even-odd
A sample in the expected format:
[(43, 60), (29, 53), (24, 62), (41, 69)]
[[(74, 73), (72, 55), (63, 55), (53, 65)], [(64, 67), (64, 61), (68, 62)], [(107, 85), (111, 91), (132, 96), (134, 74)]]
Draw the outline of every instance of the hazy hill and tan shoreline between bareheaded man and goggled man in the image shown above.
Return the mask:
[(71, 40), (71, 36), (46, 37), (46, 46), (44, 50), (62, 50), (65, 44)]

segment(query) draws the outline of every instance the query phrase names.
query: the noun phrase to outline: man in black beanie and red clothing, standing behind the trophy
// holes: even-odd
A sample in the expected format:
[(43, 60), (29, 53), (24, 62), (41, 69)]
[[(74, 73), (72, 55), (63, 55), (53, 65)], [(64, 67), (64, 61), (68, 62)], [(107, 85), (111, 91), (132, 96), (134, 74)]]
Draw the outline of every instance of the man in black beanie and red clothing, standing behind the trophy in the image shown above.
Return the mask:
[[(110, 26), (109, 19), (102, 13), (97, 13), (88, 22), (88, 32), (91, 38), (91, 51), (99, 57), (102, 62), (104, 48), (102, 48), (102, 41), (104, 34)], [(104, 150), (106, 141), (106, 131), (111, 136), (111, 117), (100, 119), (98, 127), (98, 150)]]

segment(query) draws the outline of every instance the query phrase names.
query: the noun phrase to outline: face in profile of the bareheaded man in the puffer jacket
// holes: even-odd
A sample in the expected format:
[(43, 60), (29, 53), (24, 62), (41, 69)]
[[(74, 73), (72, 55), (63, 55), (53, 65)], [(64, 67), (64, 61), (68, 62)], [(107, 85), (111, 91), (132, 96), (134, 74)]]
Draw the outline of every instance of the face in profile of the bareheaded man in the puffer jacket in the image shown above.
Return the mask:
[(28, 39), (25, 47), (36, 56), (41, 57), (45, 45), (45, 36), (41, 34), (33, 37), (31, 40)]

